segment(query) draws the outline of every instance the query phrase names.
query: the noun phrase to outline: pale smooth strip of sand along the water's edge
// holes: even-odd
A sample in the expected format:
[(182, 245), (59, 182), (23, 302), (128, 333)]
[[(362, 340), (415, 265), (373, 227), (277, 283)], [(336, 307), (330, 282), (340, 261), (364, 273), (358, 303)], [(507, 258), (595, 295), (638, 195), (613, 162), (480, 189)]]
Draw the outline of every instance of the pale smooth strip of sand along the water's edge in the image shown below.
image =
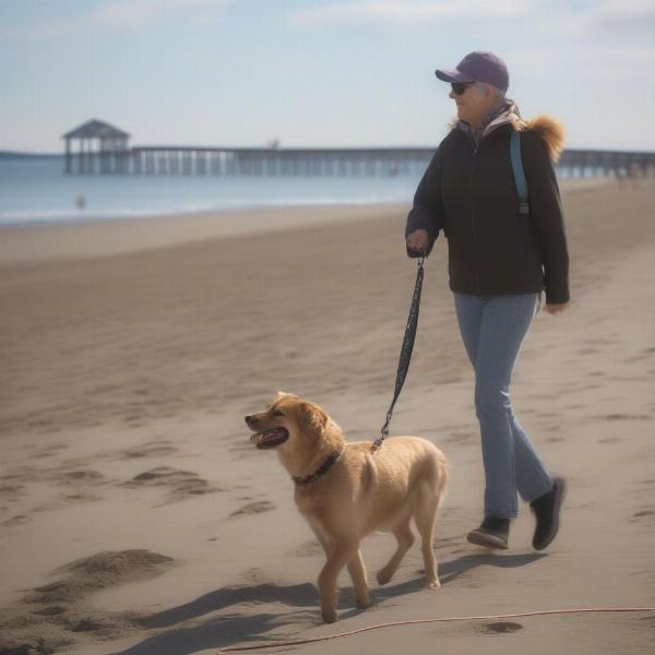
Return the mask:
[[(611, 178), (560, 182), (562, 195), (609, 184)], [(0, 226), (0, 265), (109, 257), (206, 239), (348, 224), (408, 212), (404, 203), (275, 205)]]

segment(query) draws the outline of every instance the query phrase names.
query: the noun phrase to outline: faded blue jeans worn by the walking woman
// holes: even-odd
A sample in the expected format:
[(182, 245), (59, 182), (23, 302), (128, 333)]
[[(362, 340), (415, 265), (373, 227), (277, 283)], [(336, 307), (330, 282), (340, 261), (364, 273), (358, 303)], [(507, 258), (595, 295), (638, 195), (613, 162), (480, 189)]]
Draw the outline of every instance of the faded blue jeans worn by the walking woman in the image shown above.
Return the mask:
[(541, 295), (454, 294), (460, 332), (475, 370), (475, 409), (485, 464), (485, 515), (513, 519), (516, 491), (525, 502), (550, 491), (552, 477), (510, 401), (512, 369)]

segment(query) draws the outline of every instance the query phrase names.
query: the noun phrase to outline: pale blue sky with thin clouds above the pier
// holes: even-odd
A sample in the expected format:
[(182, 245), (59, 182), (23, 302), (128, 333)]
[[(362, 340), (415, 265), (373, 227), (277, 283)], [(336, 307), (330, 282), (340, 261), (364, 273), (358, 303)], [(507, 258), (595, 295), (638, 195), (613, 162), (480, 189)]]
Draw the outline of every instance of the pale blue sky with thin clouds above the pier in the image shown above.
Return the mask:
[(430, 147), (434, 68), (471, 50), (569, 146), (655, 150), (654, 0), (0, 0), (0, 150), (90, 118), (134, 145)]

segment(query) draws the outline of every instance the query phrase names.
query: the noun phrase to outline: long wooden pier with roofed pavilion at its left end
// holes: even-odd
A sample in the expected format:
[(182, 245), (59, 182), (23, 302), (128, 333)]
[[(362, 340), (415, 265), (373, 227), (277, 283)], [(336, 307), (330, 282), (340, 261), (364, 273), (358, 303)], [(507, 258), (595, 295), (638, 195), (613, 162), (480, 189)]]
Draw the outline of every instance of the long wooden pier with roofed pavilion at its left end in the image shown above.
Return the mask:
[[(128, 146), (130, 135), (91, 120), (63, 135), (66, 174), (215, 176), (420, 175), (434, 147), (281, 148)], [(73, 142), (78, 141), (78, 152)], [(655, 177), (655, 153), (565, 150), (558, 164), (567, 177)]]

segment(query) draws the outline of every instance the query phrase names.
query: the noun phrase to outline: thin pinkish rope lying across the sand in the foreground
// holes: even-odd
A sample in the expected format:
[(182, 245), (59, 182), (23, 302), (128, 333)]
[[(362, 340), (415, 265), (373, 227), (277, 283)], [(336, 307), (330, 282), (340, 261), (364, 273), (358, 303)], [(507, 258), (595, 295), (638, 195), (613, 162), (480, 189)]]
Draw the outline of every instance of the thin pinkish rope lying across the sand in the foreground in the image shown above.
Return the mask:
[(265, 644), (257, 644), (250, 646), (227, 646), (225, 648), (216, 651), (216, 655), (223, 655), (224, 653), (236, 653), (238, 651), (260, 651), (263, 648), (278, 648), (279, 646), (299, 646), (301, 644), (311, 644), (320, 641), (327, 641), (331, 639), (340, 639), (342, 636), (352, 636), (353, 634), (359, 634), (360, 632), (368, 632), (369, 630), (379, 630), (380, 628), (391, 628), (395, 626), (416, 626), (418, 623), (445, 623), (449, 621), (486, 621), (489, 619), (515, 619), (517, 617), (544, 617), (548, 615), (588, 614), (593, 611), (655, 611), (655, 607), (593, 607), (580, 609), (547, 609), (543, 611), (522, 611), (509, 615), (487, 615), (481, 617), (445, 617), (436, 619), (393, 621), (391, 623), (378, 623), (376, 626), (368, 626), (367, 628), (358, 628), (357, 630), (350, 630), (348, 632), (335, 632), (334, 634), (325, 634), (323, 636), (312, 636), (308, 639), (298, 639), (285, 642), (269, 642)]

